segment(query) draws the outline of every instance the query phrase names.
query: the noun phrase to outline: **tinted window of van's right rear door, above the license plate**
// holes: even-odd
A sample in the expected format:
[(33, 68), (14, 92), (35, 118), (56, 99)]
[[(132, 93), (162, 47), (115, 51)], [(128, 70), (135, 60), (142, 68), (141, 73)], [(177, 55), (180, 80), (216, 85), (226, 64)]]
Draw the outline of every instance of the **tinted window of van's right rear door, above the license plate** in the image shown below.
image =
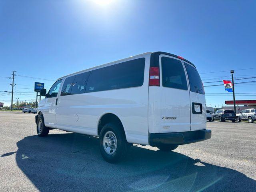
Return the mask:
[(190, 85), (190, 91), (204, 94), (204, 87), (202, 84), (202, 80), (196, 70), (193, 66), (190, 64), (185, 63), (186, 70), (188, 73), (188, 80), (189, 80), (189, 85)]

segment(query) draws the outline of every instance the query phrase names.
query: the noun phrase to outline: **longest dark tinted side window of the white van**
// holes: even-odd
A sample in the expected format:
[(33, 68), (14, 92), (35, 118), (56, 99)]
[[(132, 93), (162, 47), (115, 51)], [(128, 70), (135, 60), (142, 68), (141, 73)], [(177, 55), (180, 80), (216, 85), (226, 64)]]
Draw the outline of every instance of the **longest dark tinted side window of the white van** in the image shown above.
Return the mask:
[(138, 87), (144, 81), (145, 58), (92, 70), (86, 92)]

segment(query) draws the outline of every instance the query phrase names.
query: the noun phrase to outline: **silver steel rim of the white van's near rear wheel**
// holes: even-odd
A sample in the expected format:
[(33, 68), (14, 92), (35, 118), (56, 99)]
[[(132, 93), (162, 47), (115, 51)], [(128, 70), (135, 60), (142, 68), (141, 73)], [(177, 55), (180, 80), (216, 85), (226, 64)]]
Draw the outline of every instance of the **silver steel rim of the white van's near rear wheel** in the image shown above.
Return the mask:
[(103, 148), (107, 154), (112, 155), (116, 152), (117, 140), (112, 131), (107, 131), (103, 137)]

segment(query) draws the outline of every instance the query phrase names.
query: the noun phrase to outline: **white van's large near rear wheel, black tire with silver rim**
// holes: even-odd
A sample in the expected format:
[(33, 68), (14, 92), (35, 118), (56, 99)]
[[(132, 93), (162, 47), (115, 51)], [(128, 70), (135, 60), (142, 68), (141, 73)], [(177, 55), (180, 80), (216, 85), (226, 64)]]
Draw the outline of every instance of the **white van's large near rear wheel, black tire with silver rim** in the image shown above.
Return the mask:
[[(114, 142), (114, 146), (112, 142)], [(128, 148), (129, 144), (126, 141), (126, 136), (121, 125), (107, 123), (103, 126), (100, 132), (100, 153), (104, 160), (109, 163), (116, 163), (125, 157)]]

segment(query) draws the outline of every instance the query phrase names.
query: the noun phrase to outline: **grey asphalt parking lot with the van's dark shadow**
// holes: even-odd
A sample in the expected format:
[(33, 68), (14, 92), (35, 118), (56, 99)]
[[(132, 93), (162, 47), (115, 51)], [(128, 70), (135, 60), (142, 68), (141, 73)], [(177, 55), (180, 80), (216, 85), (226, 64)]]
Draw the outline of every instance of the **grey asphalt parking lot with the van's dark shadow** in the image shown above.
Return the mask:
[(256, 123), (207, 122), (212, 138), (160, 152), (133, 146), (105, 162), (98, 138), (50, 130), (34, 114), (0, 112), (0, 191), (256, 191)]

